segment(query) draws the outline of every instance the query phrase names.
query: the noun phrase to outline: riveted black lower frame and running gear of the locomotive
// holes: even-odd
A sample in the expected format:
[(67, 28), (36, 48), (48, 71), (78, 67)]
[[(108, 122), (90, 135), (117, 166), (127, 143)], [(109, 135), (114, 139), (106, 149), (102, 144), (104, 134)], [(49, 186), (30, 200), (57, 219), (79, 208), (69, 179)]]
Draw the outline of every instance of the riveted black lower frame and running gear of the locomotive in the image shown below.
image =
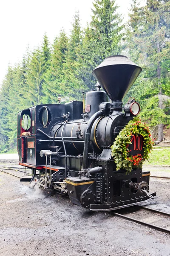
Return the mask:
[[(108, 149), (108, 151), (110, 150)], [(68, 155), (67, 178), (65, 179), (65, 156), (58, 154), (53, 158), (52, 154), (51, 152), (46, 156), (47, 166), (45, 167), (48, 169), (40, 170), (40, 174), (34, 178), (35, 183), (44, 189), (55, 189), (61, 194), (68, 194), (74, 204), (82, 205), (84, 208), (91, 210), (119, 209), (142, 203), (156, 195), (156, 193), (146, 195), (142, 190), (146, 189), (148, 194), (149, 186), (147, 184), (149, 184), (150, 172), (136, 169), (126, 175), (125, 170), (116, 171), (112, 157), (110, 160), (106, 160), (101, 159), (101, 155), (96, 157), (91, 155), (88, 157), (89, 173), (80, 177), (82, 155)], [(99, 172), (91, 175), (90, 171), (95, 171), (96, 166), (100, 168)]]

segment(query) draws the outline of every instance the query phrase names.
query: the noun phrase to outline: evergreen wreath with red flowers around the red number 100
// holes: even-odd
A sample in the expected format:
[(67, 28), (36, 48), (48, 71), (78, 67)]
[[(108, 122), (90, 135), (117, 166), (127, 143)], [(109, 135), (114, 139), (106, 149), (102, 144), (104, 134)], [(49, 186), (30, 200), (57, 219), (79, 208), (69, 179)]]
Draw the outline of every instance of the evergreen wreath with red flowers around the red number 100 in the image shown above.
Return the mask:
[[(131, 136), (143, 137), (143, 155), (137, 154), (135, 156), (130, 155), (128, 149)], [(131, 120), (125, 128), (123, 128), (119, 135), (116, 137), (113, 145), (111, 146), (112, 156), (116, 163), (116, 170), (125, 169), (129, 173), (132, 169), (142, 167), (142, 162), (148, 160), (149, 153), (153, 148), (153, 140), (151, 138), (150, 130), (147, 125), (138, 117)]]

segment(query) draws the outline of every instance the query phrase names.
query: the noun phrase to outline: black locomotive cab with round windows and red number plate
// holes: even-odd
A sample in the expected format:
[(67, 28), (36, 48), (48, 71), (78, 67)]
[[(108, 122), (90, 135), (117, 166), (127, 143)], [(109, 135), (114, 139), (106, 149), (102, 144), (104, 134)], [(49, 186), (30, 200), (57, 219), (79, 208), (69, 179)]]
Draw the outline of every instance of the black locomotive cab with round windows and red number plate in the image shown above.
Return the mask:
[(49, 133), (51, 126), (57, 120), (63, 119), (61, 118), (62, 113), (64, 113), (63, 104), (38, 105), (18, 113), (17, 149), (19, 163), (26, 163), (31, 166), (45, 164), (45, 161), (40, 157), (40, 151), (44, 148), (44, 144), (38, 143), (38, 140), (40, 137), (47, 137), (40, 134), (40, 131)]

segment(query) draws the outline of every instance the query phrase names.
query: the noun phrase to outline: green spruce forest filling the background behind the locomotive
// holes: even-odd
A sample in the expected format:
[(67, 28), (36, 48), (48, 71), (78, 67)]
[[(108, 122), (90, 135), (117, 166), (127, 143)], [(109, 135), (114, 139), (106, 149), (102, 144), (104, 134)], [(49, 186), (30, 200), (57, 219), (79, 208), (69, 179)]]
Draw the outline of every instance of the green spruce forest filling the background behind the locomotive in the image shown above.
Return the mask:
[(0, 88), (0, 152), (17, 148), (17, 113), (38, 104), (82, 100), (82, 92), (95, 89), (92, 70), (110, 55), (126, 55), (142, 73), (124, 99), (134, 97), (141, 118), (150, 127), (170, 125), (170, 1), (131, 0), (126, 23), (115, 0), (95, 0), (91, 22), (80, 25), (74, 14), (68, 36), (64, 29), (51, 45), (48, 35), (40, 47), (29, 47), (20, 63), (8, 66)]

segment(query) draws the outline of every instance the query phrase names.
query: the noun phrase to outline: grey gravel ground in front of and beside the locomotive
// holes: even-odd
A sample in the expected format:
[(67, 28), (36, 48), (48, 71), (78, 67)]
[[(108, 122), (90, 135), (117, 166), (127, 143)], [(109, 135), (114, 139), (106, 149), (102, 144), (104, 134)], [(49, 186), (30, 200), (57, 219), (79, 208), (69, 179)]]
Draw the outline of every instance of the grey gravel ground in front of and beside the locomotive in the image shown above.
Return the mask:
[[(169, 187), (151, 180), (150, 190), (159, 195), (152, 207), (169, 211)], [(170, 256), (170, 235), (91, 212), (2, 172), (0, 220), (0, 256)]]

